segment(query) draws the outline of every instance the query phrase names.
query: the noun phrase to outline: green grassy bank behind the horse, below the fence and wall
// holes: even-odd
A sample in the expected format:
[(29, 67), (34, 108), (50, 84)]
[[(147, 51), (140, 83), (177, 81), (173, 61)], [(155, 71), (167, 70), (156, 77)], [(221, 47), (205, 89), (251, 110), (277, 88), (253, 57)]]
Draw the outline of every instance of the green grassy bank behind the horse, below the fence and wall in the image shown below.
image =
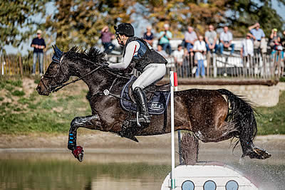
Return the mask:
[[(0, 78), (0, 134), (66, 133), (74, 117), (91, 114), (82, 81), (49, 96), (38, 95), (37, 83), (34, 78)], [(285, 134), (285, 92), (278, 105), (256, 110), (259, 135)]]

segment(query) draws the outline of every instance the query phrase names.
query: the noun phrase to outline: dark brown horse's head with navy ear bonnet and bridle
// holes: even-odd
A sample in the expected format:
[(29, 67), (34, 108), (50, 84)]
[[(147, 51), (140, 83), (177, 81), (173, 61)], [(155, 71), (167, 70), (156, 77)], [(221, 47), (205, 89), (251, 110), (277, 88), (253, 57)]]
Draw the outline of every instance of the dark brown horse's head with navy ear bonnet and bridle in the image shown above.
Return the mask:
[(70, 77), (67, 65), (63, 63), (64, 53), (56, 46), (53, 46), (53, 50), (54, 53), (52, 61), (50, 65), (48, 65), (46, 73), (41, 77), (41, 81), (36, 87), (36, 90), (40, 95), (49, 95), (59, 85), (65, 83)]

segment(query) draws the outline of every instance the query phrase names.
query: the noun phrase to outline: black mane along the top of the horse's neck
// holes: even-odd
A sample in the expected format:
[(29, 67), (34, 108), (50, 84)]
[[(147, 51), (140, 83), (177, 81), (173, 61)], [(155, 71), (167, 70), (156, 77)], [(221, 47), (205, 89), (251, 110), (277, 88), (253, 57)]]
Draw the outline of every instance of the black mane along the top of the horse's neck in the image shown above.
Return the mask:
[(89, 51), (73, 46), (68, 52), (66, 52), (68, 58), (84, 58), (89, 61), (84, 61), (86, 65), (92, 66), (92, 63), (104, 63), (106, 62), (105, 53), (101, 52), (98, 48), (92, 47)]

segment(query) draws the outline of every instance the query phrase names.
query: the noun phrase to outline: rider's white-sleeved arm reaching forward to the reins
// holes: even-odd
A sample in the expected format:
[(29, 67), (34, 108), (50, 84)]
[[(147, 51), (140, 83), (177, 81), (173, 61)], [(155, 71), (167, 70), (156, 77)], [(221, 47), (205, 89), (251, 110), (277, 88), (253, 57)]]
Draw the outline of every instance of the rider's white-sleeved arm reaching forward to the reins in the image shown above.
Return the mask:
[(140, 48), (140, 43), (138, 41), (131, 41), (125, 47), (125, 56), (121, 63), (110, 63), (108, 65), (109, 68), (116, 68), (116, 69), (125, 69), (128, 68), (130, 65), (130, 61), (133, 59), (133, 56), (138, 55), (138, 50)]

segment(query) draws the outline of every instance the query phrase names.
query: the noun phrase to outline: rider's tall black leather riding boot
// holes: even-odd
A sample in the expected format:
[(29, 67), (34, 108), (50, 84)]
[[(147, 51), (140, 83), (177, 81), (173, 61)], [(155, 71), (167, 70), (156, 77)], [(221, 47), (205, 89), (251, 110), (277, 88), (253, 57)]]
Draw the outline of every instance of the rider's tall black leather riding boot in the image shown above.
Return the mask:
[(133, 95), (135, 97), (135, 102), (138, 106), (138, 112), (140, 113), (140, 116), (145, 120), (145, 122), (150, 123), (150, 115), (148, 114), (147, 110), (147, 104), (145, 100), (145, 93), (143, 90), (139, 87), (136, 87), (133, 90)]

